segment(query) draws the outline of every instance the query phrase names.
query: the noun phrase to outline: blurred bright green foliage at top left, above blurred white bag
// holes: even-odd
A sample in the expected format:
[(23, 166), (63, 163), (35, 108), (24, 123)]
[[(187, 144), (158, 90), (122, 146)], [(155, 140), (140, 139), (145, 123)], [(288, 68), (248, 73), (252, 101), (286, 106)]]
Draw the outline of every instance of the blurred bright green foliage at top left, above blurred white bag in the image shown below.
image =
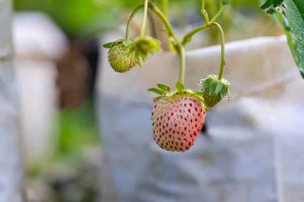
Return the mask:
[(139, 0), (15, 0), (16, 11), (42, 11), (48, 14), (70, 38), (91, 37), (116, 28), (122, 10), (133, 9)]

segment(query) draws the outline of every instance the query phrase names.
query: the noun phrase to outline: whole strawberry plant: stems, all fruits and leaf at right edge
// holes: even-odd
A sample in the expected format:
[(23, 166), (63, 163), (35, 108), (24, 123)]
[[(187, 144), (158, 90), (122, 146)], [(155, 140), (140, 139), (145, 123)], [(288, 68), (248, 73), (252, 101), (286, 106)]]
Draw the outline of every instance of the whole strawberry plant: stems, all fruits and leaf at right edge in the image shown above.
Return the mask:
[[(178, 39), (167, 19), (168, 0), (163, 0), (163, 11), (157, 7), (154, 1), (144, 0), (143, 4), (135, 8), (129, 18), (126, 28), (126, 38), (103, 45), (105, 48), (109, 48), (108, 61), (111, 68), (116, 72), (125, 73), (131, 70), (136, 64), (141, 66), (140, 61), (145, 62), (149, 54), (154, 54), (155, 51), (161, 51), (161, 42), (145, 35), (148, 9), (162, 20), (165, 31), (167, 32), (170, 48), (179, 55), (180, 59), (179, 78), (175, 85), (176, 90), (171, 90), (168, 85), (163, 83), (158, 83), (158, 88), (148, 89), (159, 94), (154, 98), (151, 120), (154, 139), (163, 149), (186, 151), (191, 148), (204, 124), (206, 110), (216, 106), (225, 96), (227, 100), (232, 98), (230, 95), (230, 83), (223, 79), (225, 65), (224, 32), (219, 23), (216, 22), (218, 16), (226, 6), (230, 5), (231, 1), (233, 0), (221, 0), (219, 11), (212, 18), (209, 18), (208, 12), (205, 10), (206, 0), (202, 0), (201, 13), (205, 18), (205, 24), (193, 28), (186, 33), (182, 39)], [(269, 14), (277, 14), (287, 35), (291, 53), (304, 77), (304, 6), (302, 5), (303, 3), (300, 2), (301, 0), (286, 0), (286, 12), (286, 6), (283, 0), (267, 0), (261, 6), (261, 9), (269, 9)], [(288, 7), (291, 8), (290, 12), (288, 11)], [(143, 18), (140, 35), (130, 40), (129, 32), (132, 20), (141, 9), (143, 9)], [(294, 16), (299, 17), (299, 19), (295, 20)], [(293, 23), (293, 20), (296, 22)], [(221, 62), (219, 74), (202, 77), (198, 81), (198, 85), (202, 86), (200, 90), (187, 89), (183, 84), (185, 73), (185, 46), (196, 33), (211, 27), (216, 27), (220, 35)]]

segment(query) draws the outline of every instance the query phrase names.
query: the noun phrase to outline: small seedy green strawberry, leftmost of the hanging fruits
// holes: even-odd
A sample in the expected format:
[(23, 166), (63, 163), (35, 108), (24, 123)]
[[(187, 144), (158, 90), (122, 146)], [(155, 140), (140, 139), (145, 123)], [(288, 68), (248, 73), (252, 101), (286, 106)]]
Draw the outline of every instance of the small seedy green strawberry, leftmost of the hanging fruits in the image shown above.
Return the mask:
[(103, 45), (103, 47), (109, 48), (107, 57), (114, 71), (123, 73), (129, 71), (136, 64), (141, 66), (139, 57), (130, 53), (130, 44), (130, 40), (119, 39)]

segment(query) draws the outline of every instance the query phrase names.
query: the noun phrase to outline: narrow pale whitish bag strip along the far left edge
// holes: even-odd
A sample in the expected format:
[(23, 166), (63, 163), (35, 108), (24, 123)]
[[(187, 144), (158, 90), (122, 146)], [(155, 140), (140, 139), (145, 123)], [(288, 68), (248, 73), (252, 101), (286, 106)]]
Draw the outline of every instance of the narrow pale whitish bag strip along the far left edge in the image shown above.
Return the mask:
[(0, 0), (0, 202), (21, 201), (21, 145), (11, 41), (11, 0)]

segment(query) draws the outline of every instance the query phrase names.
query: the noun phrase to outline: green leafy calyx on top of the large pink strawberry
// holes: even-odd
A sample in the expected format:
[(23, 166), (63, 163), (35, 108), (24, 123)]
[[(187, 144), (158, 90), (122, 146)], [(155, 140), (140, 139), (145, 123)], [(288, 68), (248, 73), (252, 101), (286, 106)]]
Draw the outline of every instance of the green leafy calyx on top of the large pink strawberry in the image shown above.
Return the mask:
[[(149, 88), (148, 91), (155, 92), (155, 93), (157, 93), (161, 96), (165, 96), (165, 97), (172, 97), (177, 94), (186, 94), (186, 95), (195, 96), (196, 98), (198, 98), (204, 102), (202, 91), (186, 89), (186, 87), (180, 81), (176, 82), (176, 84), (175, 84), (176, 90), (173, 90), (173, 91), (171, 90), (171, 88), (168, 85), (163, 84), (163, 83), (158, 83), (157, 86), (158, 86), (158, 88)], [(157, 96), (155, 98), (159, 98), (161, 96)]]

